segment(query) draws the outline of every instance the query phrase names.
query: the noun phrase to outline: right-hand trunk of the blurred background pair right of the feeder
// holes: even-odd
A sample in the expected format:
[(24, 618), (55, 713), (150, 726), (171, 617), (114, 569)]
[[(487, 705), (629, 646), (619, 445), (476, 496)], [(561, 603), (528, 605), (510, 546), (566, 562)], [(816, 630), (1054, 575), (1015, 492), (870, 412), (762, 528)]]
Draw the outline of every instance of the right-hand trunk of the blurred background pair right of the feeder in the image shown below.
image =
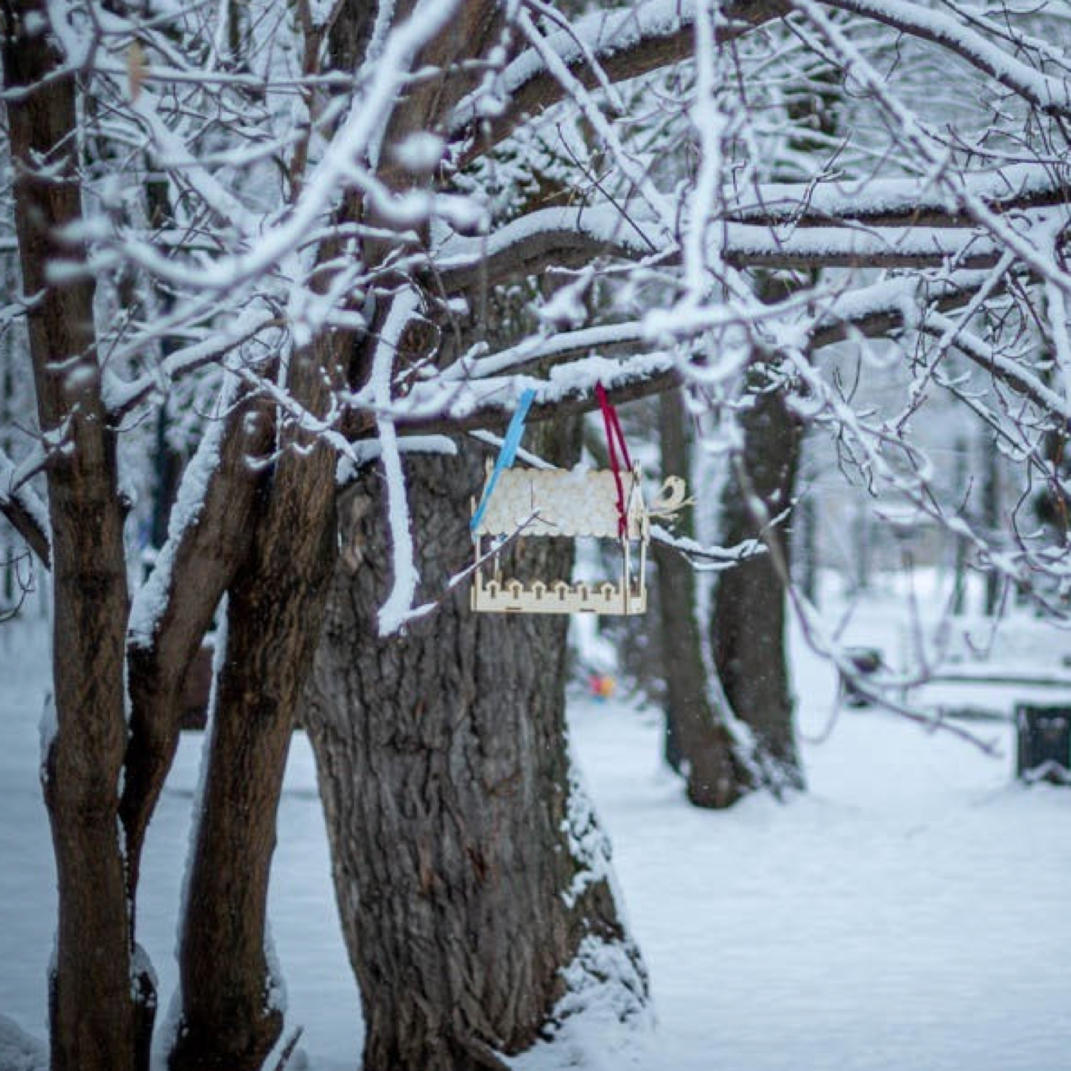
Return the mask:
[[(742, 422), (743, 466), (752, 489), (776, 516), (791, 502), (799, 424), (775, 391), (757, 395)], [(733, 545), (758, 534), (746, 493), (730, 478), (722, 496), (722, 541)], [(788, 540), (781, 529), (763, 534), (767, 541), (776, 541), (787, 562)], [(726, 698), (754, 734), (756, 765), (775, 791), (803, 788), (785, 652), (785, 592), (769, 555), (751, 558), (721, 575), (711, 632), (714, 665)]]

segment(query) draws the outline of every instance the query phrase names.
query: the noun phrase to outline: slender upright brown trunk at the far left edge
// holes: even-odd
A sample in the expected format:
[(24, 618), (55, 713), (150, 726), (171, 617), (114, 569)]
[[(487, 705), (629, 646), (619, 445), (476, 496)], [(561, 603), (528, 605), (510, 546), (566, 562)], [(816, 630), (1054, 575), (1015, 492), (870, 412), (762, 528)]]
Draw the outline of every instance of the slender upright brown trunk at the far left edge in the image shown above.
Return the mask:
[(5, 0), (0, 12), (4, 84), (26, 90), (9, 95), (6, 110), (22, 289), (40, 296), (28, 310), (37, 416), (64, 447), (47, 470), (57, 724), (43, 773), (59, 892), (51, 1067), (124, 1071), (136, 1057), (117, 819), (126, 736), (123, 513), (93, 350), (93, 285), (60, 287), (47, 274), (54, 259), (77, 255), (56, 237), (81, 216), (74, 78), (57, 76), (60, 57), (32, 29), (34, 19), (47, 25), (43, 5)]

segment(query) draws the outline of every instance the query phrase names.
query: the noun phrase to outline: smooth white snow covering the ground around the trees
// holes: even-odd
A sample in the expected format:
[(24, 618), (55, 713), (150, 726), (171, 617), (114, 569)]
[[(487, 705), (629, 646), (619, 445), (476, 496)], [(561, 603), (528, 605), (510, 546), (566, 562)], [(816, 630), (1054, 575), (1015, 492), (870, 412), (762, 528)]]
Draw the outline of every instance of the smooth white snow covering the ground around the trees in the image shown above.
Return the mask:
[[(875, 604), (846, 637), (895, 646), (894, 609)], [(804, 737), (817, 736), (832, 674), (799, 643), (794, 674)], [(39, 1038), (55, 905), (36, 785), (45, 681), (43, 631), (0, 629), (0, 1015)], [(1015, 694), (984, 697), (1010, 709)], [(691, 809), (660, 769), (653, 713), (582, 700), (572, 726), (659, 1025), (629, 1052), (582, 1037), (560, 1059), (600, 1071), (1071, 1068), (1071, 791), (1012, 783), (1007, 724), (974, 726), (1001, 742), (994, 759), (891, 715), (846, 711), (824, 742), (804, 742), (806, 796), (723, 814)], [(146, 860), (141, 939), (165, 1007), (199, 746), (184, 737)], [(300, 735), (271, 918), (289, 1029), (304, 1027), (308, 1066), (356, 1068), (358, 996)], [(522, 1062), (550, 1067), (545, 1054)]]

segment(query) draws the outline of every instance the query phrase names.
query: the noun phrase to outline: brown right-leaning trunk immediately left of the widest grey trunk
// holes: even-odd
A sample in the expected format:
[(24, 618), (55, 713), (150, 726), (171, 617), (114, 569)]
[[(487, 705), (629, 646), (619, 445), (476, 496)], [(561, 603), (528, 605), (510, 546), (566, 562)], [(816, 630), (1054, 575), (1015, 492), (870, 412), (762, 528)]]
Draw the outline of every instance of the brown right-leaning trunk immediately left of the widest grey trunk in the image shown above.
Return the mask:
[[(314, 412), (336, 378), (337, 345), (327, 338), (293, 359), (291, 389)], [(228, 589), (182, 920), (172, 1071), (257, 1071), (283, 1027), (265, 950), (268, 878), (290, 735), (335, 557), (335, 454), (322, 442), (303, 449), (280, 461)]]

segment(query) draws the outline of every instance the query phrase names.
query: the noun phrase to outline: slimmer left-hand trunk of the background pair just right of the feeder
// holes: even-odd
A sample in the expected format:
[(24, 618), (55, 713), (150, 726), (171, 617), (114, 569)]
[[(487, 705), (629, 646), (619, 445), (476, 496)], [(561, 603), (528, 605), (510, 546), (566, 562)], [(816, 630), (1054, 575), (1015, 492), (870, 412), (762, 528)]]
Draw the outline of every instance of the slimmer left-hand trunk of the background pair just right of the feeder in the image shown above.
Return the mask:
[[(659, 398), (662, 469), (689, 471), (688, 414), (679, 392)], [(682, 534), (688, 518), (680, 523)], [(703, 658), (703, 632), (696, 616), (695, 571), (677, 550), (654, 543), (658, 567), (659, 628), (666, 687), (667, 737), (687, 771), (688, 798), (696, 806), (726, 808), (751, 787), (746, 767), (718, 709)]]

